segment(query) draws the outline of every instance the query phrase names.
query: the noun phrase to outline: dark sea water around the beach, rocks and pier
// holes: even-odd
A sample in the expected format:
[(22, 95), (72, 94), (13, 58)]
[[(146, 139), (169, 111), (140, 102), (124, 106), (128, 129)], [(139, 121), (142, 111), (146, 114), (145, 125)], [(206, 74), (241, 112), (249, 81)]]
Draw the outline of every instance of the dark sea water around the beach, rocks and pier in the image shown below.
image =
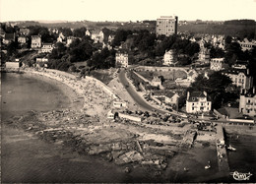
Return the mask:
[[(1, 74), (1, 120), (13, 115), (22, 115), (31, 110), (48, 111), (70, 106), (70, 99), (55, 85), (32, 78), (25, 74)], [(125, 173), (125, 165), (115, 165), (100, 156), (80, 155), (68, 148), (48, 144), (38, 140), (27, 132), (8, 127), (1, 127), (1, 182), (3, 183), (134, 183), (134, 182), (221, 182), (212, 178), (218, 172), (215, 160), (216, 152), (211, 148), (194, 149), (190, 156), (180, 153), (169, 160), (168, 167), (161, 175), (145, 167), (134, 167)], [(230, 144), (237, 152), (228, 153), (231, 171), (251, 172), (250, 180), (256, 182), (255, 137), (229, 134)], [(206, 171), (204, 161), (212, 157), (215, 168)], [(184, 154), (184, 155), (183, 155)], [(193, 156), (191, 156), (193, 155)], [(187, 157), (187, 159), (184, 159)], [(199, 158), (200, 159), (200, 158)], [(190, 171), (183, 172), (183, 165)], [(182, 165), (181, 169), (172, 169)], [(193, 166), (194, 165), (194, 166)], [(200, 167), (198, 169), (197, 167)], [(232, 178), (224, 181), (235, 182)]]

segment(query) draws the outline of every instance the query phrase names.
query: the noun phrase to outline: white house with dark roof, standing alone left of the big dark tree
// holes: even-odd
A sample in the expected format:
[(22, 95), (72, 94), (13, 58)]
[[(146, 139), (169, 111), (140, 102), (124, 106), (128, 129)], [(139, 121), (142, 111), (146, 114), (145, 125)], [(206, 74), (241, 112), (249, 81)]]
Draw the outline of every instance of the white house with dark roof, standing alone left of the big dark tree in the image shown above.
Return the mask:
[(187, 92), (186, 112), (187, 113), (204, 113), (210, 112), (212, 101), (207, 92)]

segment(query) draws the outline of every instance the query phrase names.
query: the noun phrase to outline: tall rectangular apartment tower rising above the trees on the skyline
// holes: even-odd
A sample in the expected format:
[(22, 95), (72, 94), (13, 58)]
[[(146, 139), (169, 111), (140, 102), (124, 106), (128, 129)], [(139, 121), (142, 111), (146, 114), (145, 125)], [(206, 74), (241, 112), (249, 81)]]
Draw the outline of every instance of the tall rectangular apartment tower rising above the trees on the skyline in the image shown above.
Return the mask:
[(177, 16), (161, 16), (157, 19), (157, 35), (164, 34), (166, 36), (177, 33), (178, 17)]

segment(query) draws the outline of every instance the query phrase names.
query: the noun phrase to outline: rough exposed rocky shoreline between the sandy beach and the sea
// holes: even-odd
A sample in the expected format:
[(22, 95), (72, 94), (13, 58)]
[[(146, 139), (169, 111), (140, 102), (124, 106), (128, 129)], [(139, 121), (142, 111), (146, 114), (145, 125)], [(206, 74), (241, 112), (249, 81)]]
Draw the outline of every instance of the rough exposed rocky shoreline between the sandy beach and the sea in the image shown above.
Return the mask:
[[(111, 123), (101, 124), (96, 117), (81, 114), (70, 109), (50, 112), (28, 112), (23, 116), (14, 116), (3, 122), (13, 128), (32, 133), (47, 143), (71, 148), (80, 154), (91, 154), (113, 161), (117, 165), (140, 165), (155, 171), (167, 166), (167, 158), (177, 151), (176, 146), (160, 144), (154, 140), (140, 141), (139, 135), (127, 133), (123, 139), (97, 140), (96, 132), (102, 129), (114, 129)], [(92, 139), (94, 137), (94, 139)], [(128, 172), (128, 170), (124, 170)]]

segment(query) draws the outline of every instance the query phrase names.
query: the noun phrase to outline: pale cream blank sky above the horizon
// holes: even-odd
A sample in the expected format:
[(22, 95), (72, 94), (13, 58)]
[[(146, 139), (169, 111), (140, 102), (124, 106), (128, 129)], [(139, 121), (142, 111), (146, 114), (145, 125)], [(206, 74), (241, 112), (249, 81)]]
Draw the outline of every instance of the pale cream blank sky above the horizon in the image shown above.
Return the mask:
[(0, 0), (0, 21), (256, 20), (256, 0)]

